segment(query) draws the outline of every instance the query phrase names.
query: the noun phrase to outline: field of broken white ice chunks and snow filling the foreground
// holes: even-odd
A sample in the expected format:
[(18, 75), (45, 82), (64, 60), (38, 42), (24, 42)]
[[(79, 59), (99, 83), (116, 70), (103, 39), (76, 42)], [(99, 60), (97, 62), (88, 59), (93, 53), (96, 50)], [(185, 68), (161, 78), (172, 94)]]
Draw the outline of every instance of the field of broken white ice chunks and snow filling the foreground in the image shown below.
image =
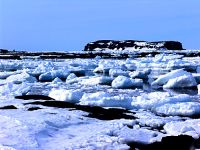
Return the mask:
[(124, 150), (180, 135), (200, 138), (200, 57), (0, 60), (0, 149)]

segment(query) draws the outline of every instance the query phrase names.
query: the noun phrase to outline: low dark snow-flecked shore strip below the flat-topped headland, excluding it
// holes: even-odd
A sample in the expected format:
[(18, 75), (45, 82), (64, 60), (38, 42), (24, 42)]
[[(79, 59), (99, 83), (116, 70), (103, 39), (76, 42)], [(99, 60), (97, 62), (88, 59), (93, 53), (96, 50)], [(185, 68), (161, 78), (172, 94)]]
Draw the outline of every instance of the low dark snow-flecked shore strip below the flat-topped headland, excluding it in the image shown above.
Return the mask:
[(105, 50), (105, 51), (68, 51), (68, 52), (27, 52), (27, 51), (0, 51), (0, 59), (72, 59), (72, 58), (95, 58), (100, 56), (101, 58), (139, 58), (148, 57), (158, 54), (177, 54), (184, 57), (197, 57), (200, 56), (200, 50)]

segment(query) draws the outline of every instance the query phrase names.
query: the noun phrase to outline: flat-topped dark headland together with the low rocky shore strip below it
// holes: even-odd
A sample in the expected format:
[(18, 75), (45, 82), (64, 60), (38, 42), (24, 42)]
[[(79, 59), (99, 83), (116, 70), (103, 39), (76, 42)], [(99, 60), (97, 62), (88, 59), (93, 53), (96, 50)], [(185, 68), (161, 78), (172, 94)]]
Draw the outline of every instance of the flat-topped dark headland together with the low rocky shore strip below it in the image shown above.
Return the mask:
[(200, 56), (200, 50), (187, 50), (178, 41), (98, 40), (89, 42), (79, 51), (15, 51), (0, 49), (0, 59), (72, 59), (72, 58), (137, 58), (157, 54), (179, 54), (185, 57)]

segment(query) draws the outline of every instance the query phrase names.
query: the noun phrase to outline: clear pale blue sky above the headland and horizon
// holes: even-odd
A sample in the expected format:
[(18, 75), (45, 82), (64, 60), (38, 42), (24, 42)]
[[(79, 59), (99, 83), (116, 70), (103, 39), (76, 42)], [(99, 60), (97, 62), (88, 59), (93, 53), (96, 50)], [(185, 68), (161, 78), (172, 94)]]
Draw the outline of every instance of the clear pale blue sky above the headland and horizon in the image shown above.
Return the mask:
[(82, 50), (99, 39), (200, 49), (200, 0), (0, 0), (0, 48)]

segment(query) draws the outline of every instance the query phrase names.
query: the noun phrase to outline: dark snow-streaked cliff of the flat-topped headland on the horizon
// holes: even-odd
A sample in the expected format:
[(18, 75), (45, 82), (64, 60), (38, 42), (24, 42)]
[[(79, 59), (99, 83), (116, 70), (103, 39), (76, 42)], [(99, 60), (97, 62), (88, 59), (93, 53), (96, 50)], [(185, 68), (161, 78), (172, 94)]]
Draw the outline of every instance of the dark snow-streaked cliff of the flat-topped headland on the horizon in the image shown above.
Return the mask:
[(125, 40), (125, 41), (114, 41), (114, 40), (99, 40), (88, 43), (85, 46), (84, 51), (94, 50), (124, 50), (126, 48), (134, 49), (167, 49), (167, 50), (182, 50), (182, 44), (177, 41), (158, 41), (158, 42), (147, 42), (147, 41), (136, 41), (136, 40)]

